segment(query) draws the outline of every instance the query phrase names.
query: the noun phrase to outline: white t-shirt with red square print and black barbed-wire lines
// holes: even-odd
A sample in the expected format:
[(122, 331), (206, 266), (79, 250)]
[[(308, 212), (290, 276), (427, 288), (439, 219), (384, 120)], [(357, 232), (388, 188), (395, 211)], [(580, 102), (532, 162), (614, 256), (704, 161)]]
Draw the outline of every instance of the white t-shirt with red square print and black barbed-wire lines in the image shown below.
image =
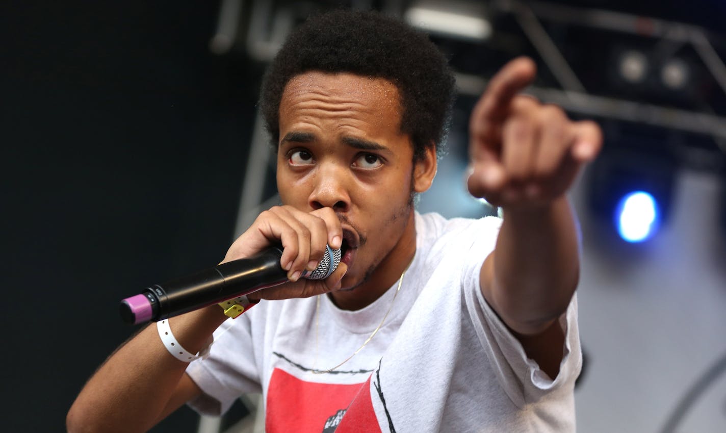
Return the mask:
[[(574, 432), (574, 381), (582, 353), (576, 299), (560, 373), (526, 357), (481, 295), (479, 270), (501, 220), (416, 214), (415, 258), (358, 311), (327, 296), (261, 302), (215, 333), (211, 355), (187, 373), (206, 394), (190, 402), (219, 414), (262, 392), (266, 432)], [(394, 299), (395, 296), (395, 299)], [(347, 363), (327, 370), (373, 339)], [(230, 328), (231, 326), (231, 328)]]

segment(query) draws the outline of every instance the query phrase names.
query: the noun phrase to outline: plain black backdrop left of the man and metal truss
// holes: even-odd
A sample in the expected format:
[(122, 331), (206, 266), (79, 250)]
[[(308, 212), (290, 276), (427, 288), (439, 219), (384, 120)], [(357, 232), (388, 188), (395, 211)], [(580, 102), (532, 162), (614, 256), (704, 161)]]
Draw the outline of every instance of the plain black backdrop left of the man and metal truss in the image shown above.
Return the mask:
[(218, 6), (0, 6), (1, 432), (65, 431), (118, 302), (224, 257), (260, 68), (210, 54)]

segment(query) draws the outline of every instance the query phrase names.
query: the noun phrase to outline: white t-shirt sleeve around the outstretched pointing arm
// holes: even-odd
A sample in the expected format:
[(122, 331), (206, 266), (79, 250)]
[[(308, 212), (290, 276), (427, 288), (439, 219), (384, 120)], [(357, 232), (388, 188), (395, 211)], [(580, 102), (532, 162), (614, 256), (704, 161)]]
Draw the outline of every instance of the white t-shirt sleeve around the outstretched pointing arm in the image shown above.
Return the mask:
[[(560, 372), (551, 379), (534, 360), (527, 357), (519, 340), (481, 293), (479, 270), (486, 256), (494, 250), (499, 224), (491, 221), (477, 224), (476, 236), (480, 240), (474, 242), (469, 251), (468, 257), (471, 259), (465, 264), (468, 269), (462, 272), (462, 290), (476, 335), (497, 373), (499, 383), (510, 399), (521, 407), (539, 400), (547, 393), (558, 390), (571, 392), (582, 366), (577, 329), (577, 299), (573, 296), (567, 311), (559, 319), (565, 333), (565, 345)], [(472, 236), (476, 237), (474, 234)]]

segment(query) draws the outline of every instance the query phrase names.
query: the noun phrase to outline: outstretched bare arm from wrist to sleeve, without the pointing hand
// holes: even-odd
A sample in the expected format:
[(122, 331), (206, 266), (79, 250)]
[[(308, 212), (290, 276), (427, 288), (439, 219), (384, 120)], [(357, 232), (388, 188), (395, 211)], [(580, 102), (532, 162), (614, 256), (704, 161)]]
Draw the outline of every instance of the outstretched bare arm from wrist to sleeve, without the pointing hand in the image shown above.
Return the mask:
[(536, 212), (505, 209), (497, 245), (481, 268), (482, 292), (550, 378), (558, 375), (565, 341), (558, 317), (578, 274), (574, 215), (566, 198)]

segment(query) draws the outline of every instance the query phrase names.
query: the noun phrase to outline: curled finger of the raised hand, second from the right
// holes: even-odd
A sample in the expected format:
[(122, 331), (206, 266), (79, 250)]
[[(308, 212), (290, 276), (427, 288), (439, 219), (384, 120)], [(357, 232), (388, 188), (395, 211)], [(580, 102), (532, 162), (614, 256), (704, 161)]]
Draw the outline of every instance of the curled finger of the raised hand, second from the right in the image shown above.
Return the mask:
[(539, 150), (534, 161), (534, 177), (546, 179), (560, 166), (574, 139), (574, 125), (558, 107), (547, 105), (540, 112)]

